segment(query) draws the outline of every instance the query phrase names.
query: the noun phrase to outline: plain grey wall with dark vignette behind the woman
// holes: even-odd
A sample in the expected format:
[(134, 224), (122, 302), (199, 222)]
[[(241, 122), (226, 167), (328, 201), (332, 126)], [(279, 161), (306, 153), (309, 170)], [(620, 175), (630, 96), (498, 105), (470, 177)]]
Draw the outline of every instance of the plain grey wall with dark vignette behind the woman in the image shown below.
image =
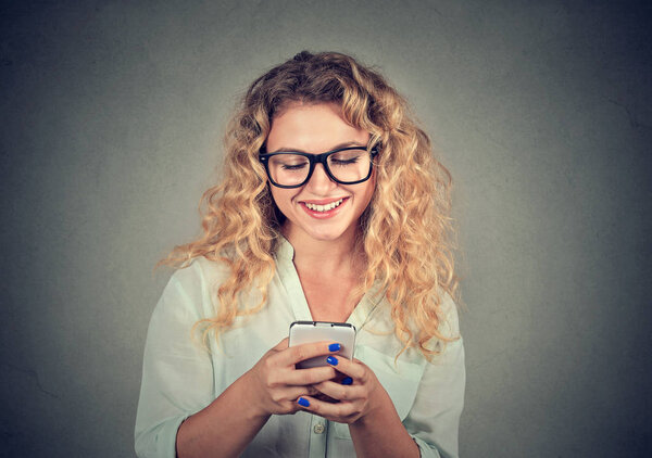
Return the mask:
[(237, 96), (302, 49), (377, 65), (454, 176), (463, 456), (652, 450), (649, 7), (1, 9), (2, 456), (134, 455), (152, 267), (199, 233)]

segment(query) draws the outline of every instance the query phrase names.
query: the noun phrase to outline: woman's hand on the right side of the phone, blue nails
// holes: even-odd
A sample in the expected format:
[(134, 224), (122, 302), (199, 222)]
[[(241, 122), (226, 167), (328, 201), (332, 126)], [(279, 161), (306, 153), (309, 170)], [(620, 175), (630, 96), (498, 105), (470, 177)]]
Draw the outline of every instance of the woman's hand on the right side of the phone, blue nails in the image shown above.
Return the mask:
[(387, 407), (391, 399), (372, 369), (358, 359), (329, 356), (328, 364), (344, 377), (339, 382), (328, 380), (313, 385), (321, 393), (339, 400), (328, 403), (313, 396), (302, 396), (310, 403), (298, 399), (299, 405), (312, 414), (339, 423), (354, 423), (358, 420)]

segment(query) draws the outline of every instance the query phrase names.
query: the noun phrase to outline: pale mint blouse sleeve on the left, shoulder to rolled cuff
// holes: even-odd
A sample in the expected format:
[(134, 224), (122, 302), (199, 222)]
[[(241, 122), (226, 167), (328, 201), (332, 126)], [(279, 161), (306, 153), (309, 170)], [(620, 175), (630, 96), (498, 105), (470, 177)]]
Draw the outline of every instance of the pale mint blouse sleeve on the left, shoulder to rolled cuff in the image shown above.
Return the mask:
[(135, 428), (139, 458), (175, 458), (179, 425), (214, 398), (212, 359), (190, 336), (201, 319), (196, 267), (173, 275), (149, 323)]

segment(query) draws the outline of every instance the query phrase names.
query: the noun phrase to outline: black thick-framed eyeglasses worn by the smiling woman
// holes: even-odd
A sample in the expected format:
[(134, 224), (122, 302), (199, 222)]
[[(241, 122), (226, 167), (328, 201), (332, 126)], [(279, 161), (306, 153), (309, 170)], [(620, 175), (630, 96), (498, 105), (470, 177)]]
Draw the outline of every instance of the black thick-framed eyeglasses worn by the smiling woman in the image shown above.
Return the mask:
[(278, 188), (299, 188), (312, 177), (315, 166), (322, 164), (326, 175), (340, 185), (356, 185), (372, 176), (373, 160), (378, 154), (376, 147), (338, 148), (322, 154), (277, 151), (262, 153), (260, 162), (265, 166), (272, 185)]

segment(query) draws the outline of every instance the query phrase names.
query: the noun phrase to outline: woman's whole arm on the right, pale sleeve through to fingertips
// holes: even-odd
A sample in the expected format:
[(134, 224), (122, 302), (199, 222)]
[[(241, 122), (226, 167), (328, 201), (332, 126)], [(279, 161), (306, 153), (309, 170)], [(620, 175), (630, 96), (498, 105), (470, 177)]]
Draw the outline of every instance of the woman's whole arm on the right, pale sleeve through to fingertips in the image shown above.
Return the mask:
[(311, 406), (306, 410), (348, 423), (359, 456), (417, 457), (419, 453), (430, 458), (459, 456), (457, 433), (465, 386), (464, 346), (455, 305), (448, 296), (444, 302), (441, 331), (459, 339), (449, 342), (432, 362), (425, 362), (425, 370), (415, 379), (418, 386), (415, 386), (412, 407), (409, 411), (402, 410), (401, 418), (405, 417), (402, 422), (376, 374), (358, 360), (338, 358), (336, 365), (338, 371), (352, 378), (351, 386), (331, 381), (316, 385), (321, 392), (341, 402), (327, 405), (310, 398)]

